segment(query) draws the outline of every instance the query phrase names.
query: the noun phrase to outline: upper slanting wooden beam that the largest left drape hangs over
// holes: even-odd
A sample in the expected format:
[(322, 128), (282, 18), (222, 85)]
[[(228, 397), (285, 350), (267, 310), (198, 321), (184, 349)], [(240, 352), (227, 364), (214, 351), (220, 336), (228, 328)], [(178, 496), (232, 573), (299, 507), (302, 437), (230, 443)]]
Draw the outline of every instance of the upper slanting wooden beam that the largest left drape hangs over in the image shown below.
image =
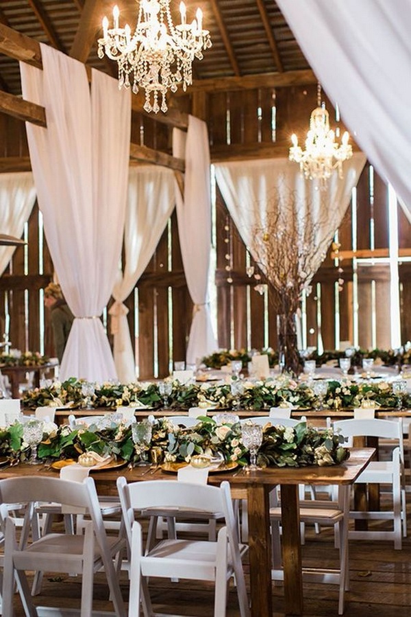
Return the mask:
[[(5, 54), (15, 60), (21, 60), (27, 62), (27, 64), (42, 69), (40, 44), (34, 38), (29, 38), (24, 34), (20, 34), (12, 28), (0, 23), (0, 54)], [(90, 67), (86, 66), (88, 79), (90, 80)], [(169, 108), (166, 114), (158, 113), (148, 114), (143, 110), (144, 97), (132, 96), (132, 110), (138, 113), (142, 113), (152, 120), (158, 121), (162, 124), (169, 126), (175, 126), (186, 130), (188, 127), (188, 114), (182, 113), (177, 109)]]

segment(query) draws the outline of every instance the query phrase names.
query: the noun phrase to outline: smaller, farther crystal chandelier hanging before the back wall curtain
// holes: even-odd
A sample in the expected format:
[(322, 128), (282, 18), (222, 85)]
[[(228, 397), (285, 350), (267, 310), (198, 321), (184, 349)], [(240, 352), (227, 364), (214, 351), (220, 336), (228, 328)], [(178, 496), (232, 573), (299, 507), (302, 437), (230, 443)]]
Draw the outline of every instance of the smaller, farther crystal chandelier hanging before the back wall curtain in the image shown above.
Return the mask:
[(334, 141), (334, 130), (329, 128), (329, 115), (325, 106), (321, 106), (321, 86), (317, 87), (317, 106), (310, 117), (310, 130), (306, 137), (306, 147), (303, 150), (298, 145), (297, 135), (291, 136), (292, 146), (288, 158), (299, 163), (301, 172), (306, 178), (318, 178), (322, 189), (334, 169), (343, 178), (343, 161), (347, 161), (353, 149), (348, 143), (349, 133), (345, 131), (340, 145)]

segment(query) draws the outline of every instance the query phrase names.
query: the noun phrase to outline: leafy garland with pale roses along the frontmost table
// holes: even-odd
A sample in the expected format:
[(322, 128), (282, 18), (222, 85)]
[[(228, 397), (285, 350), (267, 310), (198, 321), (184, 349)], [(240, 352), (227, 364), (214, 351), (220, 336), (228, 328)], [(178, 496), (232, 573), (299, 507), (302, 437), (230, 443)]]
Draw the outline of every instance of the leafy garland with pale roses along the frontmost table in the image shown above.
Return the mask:
[[(149, 439), (142, 443), (136, 439), (136, 427), (149, 426)], [(262, 443), (257, 453), (261, 467), (302, 467), (305, 465), (334, 465), (349, 456), (343, 447), (344, 437), (332, 429), (310, 428), (299, 423), (295, 428), (274, 426), (267, 423), (262, 430)], [(124, 463), (137, 465), (147, 458), (160, 461), (190, 463), (193, 456), (220, 456), (226, 463), (247, 465), (249, 451), (242, 443), (239, 422), (218, 423), (209, 417), (200, 417), (196, 426), (182, 428), (171, 419), (149, 419), (131, 426), (123, 421), (105, 419), (103, 425), (43, 424), (36, 456), (44, 462), (77, 459), (82, 454), (95, 453), (101, 457), (112, 456)], [(16, 421), (0, 429), (0, 455), (18, 463), (28, 461), (29, 443), (25, 442), (24, 425)], [(155, 458), (153, 454), (155, 453)]]

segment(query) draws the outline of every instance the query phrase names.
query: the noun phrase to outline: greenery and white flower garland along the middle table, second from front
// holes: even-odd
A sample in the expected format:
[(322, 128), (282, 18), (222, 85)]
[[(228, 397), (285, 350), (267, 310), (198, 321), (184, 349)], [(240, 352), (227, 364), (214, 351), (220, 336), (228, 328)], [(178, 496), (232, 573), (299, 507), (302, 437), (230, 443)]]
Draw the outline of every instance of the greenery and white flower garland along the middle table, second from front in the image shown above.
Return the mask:
[[(351, 382), (328, 380), (327, 391), (316, 393), (315, 381), (297, 382), (281, 375), (275, 379), (241, 380), (242, 387), (234, 390), (229, 382), (181, 384), (167, 380), (170, 385), (167, 407), (171, 410), (188, 410), (200, 407), (212, 409), (269, 410), (271, 407), (293, 406), (304, 410), (357, 408), (375, 406), (384, 408), (411, 407), (408, 392), (393, 391), (393, 384), (385, 381)], [(115, 409), (132, 406), (158, 410), (164, 408), (160, 393), (162, 382), (135, 382), (133, 384), (93, 384), (92, 395), (84, 394), (84, 380), (74, 378), (53, 382), (45, 388), (27, 391), (23, 397), (25, 408), (42, 406), (69, 407), (73, 409)], [(395, 383), (395, 382), (393, 382)]]

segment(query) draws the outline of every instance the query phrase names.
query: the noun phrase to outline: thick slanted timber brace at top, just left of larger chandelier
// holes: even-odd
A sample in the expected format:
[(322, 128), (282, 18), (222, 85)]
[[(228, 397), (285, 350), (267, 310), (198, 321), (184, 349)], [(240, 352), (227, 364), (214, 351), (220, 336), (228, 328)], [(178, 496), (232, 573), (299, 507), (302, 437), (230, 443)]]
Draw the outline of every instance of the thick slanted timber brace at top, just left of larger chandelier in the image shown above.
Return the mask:
[(69, 56), (80, 62), (86, 62), (92, 45), (101, 29), (101, 20), (105, 14), (103, 0), (86, 0), (80, 17), (79, 27), (75, 33)]

